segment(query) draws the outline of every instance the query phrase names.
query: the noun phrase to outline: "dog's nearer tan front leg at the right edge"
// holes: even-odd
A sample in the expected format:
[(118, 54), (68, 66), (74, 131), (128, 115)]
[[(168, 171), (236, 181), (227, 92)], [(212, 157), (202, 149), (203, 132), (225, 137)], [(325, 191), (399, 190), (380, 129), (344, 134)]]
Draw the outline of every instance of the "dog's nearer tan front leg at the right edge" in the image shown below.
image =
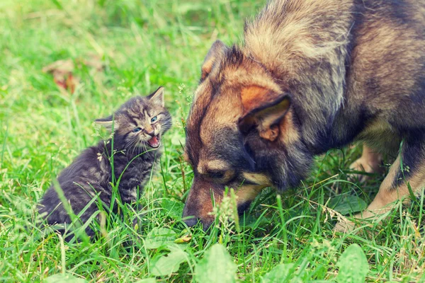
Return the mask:
[[(418, 137), (404, 141), (402, 151), (380, 185), (375, 199), (365, 211), (355, 216), (356, 219), (376, 221), (380, 215), (389, 212), (397, 200), (409, 197), (408, 183), (414, 193), (425, 185), (425, 141)], [(351, 221), (339, 221), (334, 230), (347, 232), (354, 228), (355, 224)]]

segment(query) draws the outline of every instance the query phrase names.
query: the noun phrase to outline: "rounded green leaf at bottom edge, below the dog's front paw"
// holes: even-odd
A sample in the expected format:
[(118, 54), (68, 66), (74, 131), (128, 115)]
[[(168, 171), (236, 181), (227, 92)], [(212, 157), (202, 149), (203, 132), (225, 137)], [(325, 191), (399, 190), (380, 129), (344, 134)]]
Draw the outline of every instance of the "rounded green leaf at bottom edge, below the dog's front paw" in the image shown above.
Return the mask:
[(336, 281), (339, 283), (363, 283), (369, 271), (365, 253), (356, 243), (344, 250), (336, 265), (339, 267)]

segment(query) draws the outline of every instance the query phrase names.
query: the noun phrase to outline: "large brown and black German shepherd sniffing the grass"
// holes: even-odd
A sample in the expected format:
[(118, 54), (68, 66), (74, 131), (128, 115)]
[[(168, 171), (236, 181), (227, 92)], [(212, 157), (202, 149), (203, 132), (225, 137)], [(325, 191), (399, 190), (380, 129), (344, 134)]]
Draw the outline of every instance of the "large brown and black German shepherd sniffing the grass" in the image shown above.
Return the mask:
[(270, 1), (243, 45), (216, 41), (201, 69), (186, 124), (189, 226), (210, 226), (225, 187), (243, 212), (264, 187), (297, 187), (315, 155), (353, 141), (364, 146), (354, 168), (397, 156), (358, 218), (409, 196), (405, 181), (425, 186), (424, 0)]

